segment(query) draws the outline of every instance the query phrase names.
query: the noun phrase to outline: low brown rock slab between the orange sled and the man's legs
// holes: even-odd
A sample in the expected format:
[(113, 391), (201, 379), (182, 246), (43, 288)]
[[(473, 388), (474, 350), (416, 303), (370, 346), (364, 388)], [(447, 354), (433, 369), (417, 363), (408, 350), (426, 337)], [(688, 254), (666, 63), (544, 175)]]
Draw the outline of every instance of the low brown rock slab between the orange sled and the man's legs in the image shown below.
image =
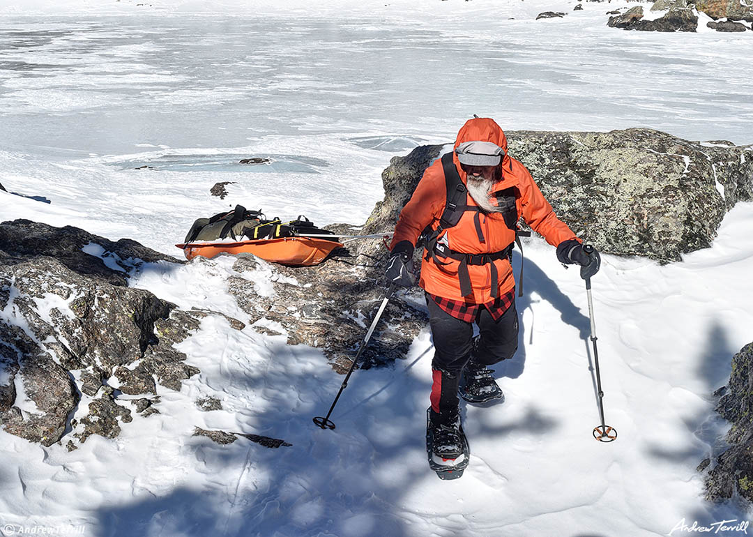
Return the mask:
[[(360, 247), (366, 251), (374, 248)], [(377, 248), (381, 251), (377, 249), (375, 256), (366, 257), (356, 246), (349, 257), (333, 258), (316, 267), (276, 266), (273, 297), (260, 295), (253, 282), (238, 276), (228, 279), (228, 290), (251, 316), (255, 328), (259, 325), (264, 331), (267, 324), (282, 327), (288, 344), (319, 347), (335, 371), (345, 372), (384, 296), (382, 261), (387, 252), (380, 243)], [(258, 267), (259, 261), (252, 256), (239, 256), (233, 265), (239, 273)], [(361, 355), (363, 368), (404, 358), (413, 338), (425, 325), (425, 313), (399, 298), (390, 301), (383, 317), (385, 320), (377, 325)]]

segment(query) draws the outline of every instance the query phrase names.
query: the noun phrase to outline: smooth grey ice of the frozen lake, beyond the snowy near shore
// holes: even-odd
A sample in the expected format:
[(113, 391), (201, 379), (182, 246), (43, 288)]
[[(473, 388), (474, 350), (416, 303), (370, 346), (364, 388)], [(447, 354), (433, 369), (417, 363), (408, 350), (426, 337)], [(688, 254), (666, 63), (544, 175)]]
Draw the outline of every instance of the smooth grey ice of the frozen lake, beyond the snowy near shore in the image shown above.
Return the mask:
[(535, 23), (504, 10), (431, 22), (4, 17), (3, 145), (110, 154), (372, 130), (451, 137), (474, 113), (506, 129), (753, 143), (746, 35), (617, 31), (605, 10)]

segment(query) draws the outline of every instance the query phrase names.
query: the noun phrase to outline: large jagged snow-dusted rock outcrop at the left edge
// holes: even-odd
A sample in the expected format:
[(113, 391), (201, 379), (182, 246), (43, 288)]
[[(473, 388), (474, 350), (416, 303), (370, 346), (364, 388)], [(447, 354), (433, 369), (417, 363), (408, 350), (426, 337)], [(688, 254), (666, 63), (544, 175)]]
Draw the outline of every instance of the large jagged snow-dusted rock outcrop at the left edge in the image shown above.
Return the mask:
[[(154, 395), (199, 372), (173, 344), (206, 313), (127, 286), (129, 270), (157, 261), (177, 263), (74, 227), (0, 224), (0, 423), (7, 432), (47, 446), (69, 426), (81, 442), (113, 438), (131, 417), (108, 383)], [(69, 423), (82, 394), (94, 398), (88, 413)]]

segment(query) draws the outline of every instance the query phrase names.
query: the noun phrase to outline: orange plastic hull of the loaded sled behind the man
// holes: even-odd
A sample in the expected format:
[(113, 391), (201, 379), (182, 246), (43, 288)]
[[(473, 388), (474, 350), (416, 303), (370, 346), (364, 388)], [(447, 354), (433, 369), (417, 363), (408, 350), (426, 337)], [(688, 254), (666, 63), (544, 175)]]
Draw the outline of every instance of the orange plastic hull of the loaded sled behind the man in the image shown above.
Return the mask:
[(193, 259), (197, 255), (213, 258), (223, 253), (248, 253), (273, 263), (308, 267), (321, 263), (334, 249), (342, 248), (343, 244), (314, 237), (285, 236), (276, 239), (242, 240), (237, 243), (184, 243), (175, 246), (183, 249), (187, 259)]

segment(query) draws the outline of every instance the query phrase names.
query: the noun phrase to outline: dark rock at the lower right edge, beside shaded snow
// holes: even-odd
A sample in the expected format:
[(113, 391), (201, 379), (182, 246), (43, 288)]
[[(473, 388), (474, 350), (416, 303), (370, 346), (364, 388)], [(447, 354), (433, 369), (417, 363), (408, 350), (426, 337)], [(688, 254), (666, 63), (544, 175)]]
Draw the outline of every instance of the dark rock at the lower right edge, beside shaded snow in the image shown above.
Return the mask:
[[(727, 433), (731, 447), (711, 461), (706, 475), (706, 498), (722, 502), (738, 493), (753, 502), (753, 343), (742, 347), (732, 359), (730, 383), (721, 390), (718, 413), (732, 423)], [(700, 469), (701, 469), (700, 468)]]

